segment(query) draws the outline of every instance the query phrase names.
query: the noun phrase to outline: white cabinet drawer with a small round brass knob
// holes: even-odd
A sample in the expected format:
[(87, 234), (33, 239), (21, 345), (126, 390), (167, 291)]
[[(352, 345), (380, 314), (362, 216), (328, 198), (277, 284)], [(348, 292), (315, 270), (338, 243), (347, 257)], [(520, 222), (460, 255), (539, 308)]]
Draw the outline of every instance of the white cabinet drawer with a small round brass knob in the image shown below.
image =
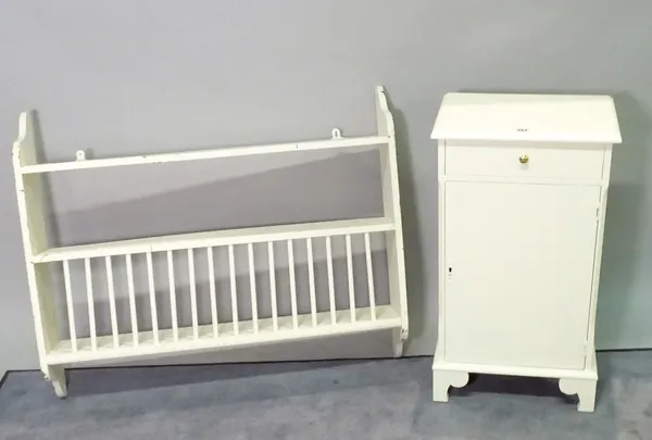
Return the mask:
[(447, 175), (597, 181), (602, 178), (603, 160), (602, 144), (446, 143)]

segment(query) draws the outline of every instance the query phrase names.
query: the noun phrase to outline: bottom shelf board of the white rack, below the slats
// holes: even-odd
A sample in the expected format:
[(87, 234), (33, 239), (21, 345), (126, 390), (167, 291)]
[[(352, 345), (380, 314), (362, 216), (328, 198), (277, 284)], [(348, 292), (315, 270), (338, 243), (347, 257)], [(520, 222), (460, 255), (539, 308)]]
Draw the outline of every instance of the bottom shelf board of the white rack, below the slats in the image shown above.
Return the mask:
[(377, 305), (375, 309), (376, 319), (372, 319), (369, 307), (355, 309), (355, 322), (351, 319), (350, 310), (337, 311), (335, 324), (333, 324), (330, 312), (317, 313), (316, 325), (313, 325), (312, 314), (298, 315), (297, 326), (294, 326), (292, 316), (279, 316), (277, 329), (274, 328), (272, 318), (262, 318), (258, 320), (258, 331), (254, 330), (253, 320), (240, 320), (237, 334), (234, 323), (223, 323), (217, 325), (217, 337), (215, 337), (215, 328), (212, 324), (198, 326), (197, 337), (193, 327), (179, 327), (176, 339), (173, 330), (166, 328), (159, 330), (158, 343), (154, 341), (154, 334), (151, 330), (138, 332), (137, 344), (135, 344), (131, 332), (121, 334), (117, 338), (117, 347), (113, 336), (99, 336), (95, 350), (90, 338), (78, 339), (76, 351), (73, 351), (71, 340), (62, 340), (47, 354), (46, 360), (48, 365), (102, 360), (133, 360), (138, 356), (259, 345), (401, 327), (401, 318), (390, 305)]

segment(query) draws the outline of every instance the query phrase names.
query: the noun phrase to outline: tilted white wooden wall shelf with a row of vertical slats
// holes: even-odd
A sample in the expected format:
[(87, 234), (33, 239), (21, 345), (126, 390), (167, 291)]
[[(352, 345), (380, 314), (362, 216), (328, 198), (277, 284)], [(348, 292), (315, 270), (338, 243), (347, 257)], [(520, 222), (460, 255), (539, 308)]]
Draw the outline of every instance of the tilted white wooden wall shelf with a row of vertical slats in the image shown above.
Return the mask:
[[(21, 113), (18, 137), (12, 149), (12, 164), (23, 238), (24, 253), (22, 254), (25, 255), (33, 306), (32, 317), (34, 318), (41, 369), (52, 382), (57, 395), (63, 398), (67, 394), (65, 375), (67, 364), (80, 365), (96, 361), (99, 364), (109, 360), (128, 362), (147, 356), (215, 351), (227, 347), (262, 345), (381, 329), (391, 329), (388, 331), (388, 336), (391, 332), (393, 356), (401, 356), (403, 341), (409, 336), (409, 322), (396, 134), (386, 91), (381, 86), (376, 87), (375, 91), (376, 133), (372, 136), (342, 137), (340, 130), (335, 128), (330, 138), (326, 139), (126, 158), (92, 159), (87, 158), (86, 153), (80, 150), (75, 153), (74, 158), (70, 158), (71, 161), (58, 163), (39, 163), (42, 136), (39, 130), (37, 113), (35, 111)], [(49, 243), (52, 241), (52, 237), (48, 234), (50, 216), (43, 201), (48, 199), (51, 188), (50, 183), (45, 178), (46, 173), (330, 149), (347, 152), (378, 151), (380, 168), (378, 184), (383, 192), (383, 213), (379, 214), (379, 217), (334, 221), (333, 218), (337, 218), (337, 216), (329, 215), (323, 217), (322, 222), (313, 223), (195, 231), (50, 248)], [(338, 152), (334, 151), (333, 153)], [(137, 171), (138, 168), (136, 168)], [(173, 173), (174, 169), (170, 169), (170, 172)], [(211, 210), (212, 206), (206, 205), (206, 209)], [(388, 302), (389, 305), (376, 305), (374, 261), (377, 259), (373, 255), (371, 237), (371, 234), (374, 232), (384, 236), (386, 263), (380, 265), (379, 271), (387, 273), (389, 298), (388, 300), (384, 299), (383, 302)], [(340, 239), (337, 240), (337, 243), (329, 240), (330, 237), (338, 236)], [(319, 238), (315, 241), (324, 240), (323, 243), (313, 243), (312, 240), (308, 240), (311, 238)], [(356, 240), (360, 238), (364, 239), (365, 268), (358, 262), (353, 263), (354, 253), (359, 253), (358, 250), (353, 252), (353, 240), (361, 243), (362, 240)], [(296, 240), (297, 243), (292, 240)], [(294, 248), (298, 248), (296, 244), (299, 242), (302, 244), (302, 250), (294, 259)], [(254, 243), (259, 243), (256, 249), (254, 249)], [(262, 248), (263, 243), (267, 248), (264, 272), (268, 274), (269, 278), (269, 301), (259, 304), (255, 256), (260, 253), (256, 251), (260, 251), (259, 248)], [(283, 244), (286, 250), (281, 251), (279, 244)], [(326, 263), (325, 273), (319, 274), (319, 279), (327, 281), (325, 284), (317, 282), (315, 279), (316, 263), (313, 244), (318, 247), (319, 263), (322, 261)], [(238, 248), (235, 248), (236, 246)], [(201, 248), (205, 250), (205, 260), (201, 255), (202, 262), (199, 262), (196, 261), (196, 254), (202, 252), (192, 250)], [(221, 251), (228, 253), (228, 264), (218, 264), (222, 267), (217, 274), (222, 280), (224, 274), (222, 269), (228, 265), (228, 277), (224, 279), (228, 280), (228, 289), (217, 288), (216, 265), (212, 248), (221, 248)], [(279, 257), (275, 257), (276, 248), (283, 252)], [(322, 255), (323, 250), (326, 253), (325, 259)], [(184, 259), (187, 263), (187, 280), (175, 279), (175, 256), (179, 255), (173, 255), (173, 251), (188, 251), (187, 259)], [(236, 257), (244, 256), (241, 251), (247, 252), (247, 262), (244, 259)], [(135, 259), (131, 257), (134, 254), (145, 256), (145, 267), (138, 264), (135, 271)], [(120, 271), (114, 271), (113, 264), (117, 261), (112, 256), (124, 259), (126, 286), (122, 282), (122, 267)], [(156, 300), (156, 288), (161, 288), (161, 286), (158, 286), (158, 278), (154, 277), (154, 256), (164, 256), (167, 260), (166, 285), (170, 289), (170, 304), (162, 304)], [(303, 261), (304, 256), (305, 261)], [(104, 261), (95, 260), (100, 257), (103, 257)], [(340, 291), (342, 289), (336, 291), (335, 274), (341, 269), (339, 264), (337, 271), (334, 266), (336, 266), (336, 260), (341, 259), (346, 260), (347, 291)], [(75, 260), (77, 261), (70, 264)], [(79, 262), (79, 260), (84, 261)], [(137, 260), (141, 262), (141, 259)], [(156, 261), (161, 260), (156, 259)], [(222, 254), (220, 261), (225, 262)], [(62, 263), (47, 264), (51, 262)], [(83, 265), (75, 263), (83, 263)], [(95, 263), (103, 263), (103, 268)], [(117, 263), (120, 264), (120, 262)], [(196, 276), (199, 265), (202, 266), (200, 279)], [(277, 282), (276, 274), (281, 267), (287, 274), (287, 278), (284, 276)], [(301, 267), (301, 273), (296, 271), (299, 267)], [(308, 268), (306, 286), (303, 282), (303, 267)], [(208, 269), (208, 274), (203, 272), (205, 269)], [(52, 278), (63, 281), (64, 292), (61, 293), (65, 293), (65, 310), (54, 310), (53, 307), (59, 301), (55, 296), (61, 290), (50, 286), (50, 275), (53, 273), (61, 278)], [(121, 273), (121, 282), (115, 282), (116, 273)], [(158, 268), (156, 274), (159, 274)], [(100, 280), (93, 282), (93, 278), (98, 275), (102, 280), (101, 287), (96, 288)], [(184, 275), (186, 275), (186, 271), (184, 271)], [(204, 275), (208, 275), (208, 282)], [(238, 277), (241, 275), (249, 277), (248, 292), (246, 289), (238, 288)], [(323, 278), (324, 276), (325, 278)], [(366, 277), (366, 288), (363, 288), (362, 285), (356, 286), (358, 277), (361, 279)], [(80, 282), (82, 278), (85, 279), (84, 286)], [(141, 291), (145, 284), (147, 284), (147, 291)], [(208, 287), (208, 297), (204, 296), (203, 290), (200, 292), (203, 286)], [(126, 297), (116, 294), (116, 289), (123, 288), (126, 288), (126, 292), (117, 293), (124, 293)], [(304, 292), (305, 288), (308, 291)], [(185, 296), (186, 289), (189, 290), (190, 307), (189, 311), (185, 306), (183, 309), (184, 313), (190, 312), (192, 326), (179, 328), (177, 291), (184, 290)], [(289, 296), (291, 314), (285, 310), (286, 304), (279, 302), (277, 290), (283, 291), (285, 297)], [(230, 307), (222, 307), (220, 319), (223, 324), (213, 325), (213, 323), (217, 323), (218, 318), (217, 294), (230, 297)], [(350, 309), (338, 311), (339, 298), (343, 299), (347, 294)], [(305, 296), (310, 300), (310, 314), (300, 314), (305, 310), (299, 299), (304, 299)], [(368, 302), (359, 303), (359, 305), (366, 303), (369, 305), (368, 307), (355, 306), (359, 296), (368, 298)], [(179, 298), (181, 298), (180, 293)], [(149, 313), (140, 305), (142, 300), (147, 301), (148, 299)], [(328, 312), (322, 312), (324, 300), (328, 301)], [(121, 304), (128, 304), (128, 307), (118, 306)], [(240, 306), (238, 304), (250, 306), (251, 320), (239, 319)], [(102, 315), (96, 313), (96, 306), (98, 311), (108, 307), (109, 316), (103, 316), (103, 318), (110, 318), (110, 336), (98, 335), (98, 330), (103, 331), (104, 325), (108, 323), (97, 320), (98, 316)], [(203, 322), (200, 322), (200, 317), (205, 315), (206, 307), (210, 309), (211, 325), (201, 326), (200, 324)], [(279, 309), (284, 310), (284, 316), (278, 316)], [(285, 316), (286, 314), (289, 316)], [(151, 316), (146, 317), (146, 315)], [(265, 318), (259, 318), (259, 316), (265, 316)], [(271, 318), (266, 318), (266, 316), (271, 316)], [(118, 327), (118, 323), (123, 318), (130, 322), (127, 334), (120, 331), (121, 329), (126, 330), (126, 328), (120, 328), (122, 325)], [(187, 325), (185, 318), (186, 315), (184, 315), (184, 325)], [(77, 328), (77, 325), (82, 323), (84, 323), (84, 327)], [(67, 327), (70, 337), (68, 340), (61, 341), (59, 335), (63, 327)], [(84, 331), (82, 336), (88, 336), (88, 338), (78, 338), (77, 336), (82, 331)], [(346, 339), (343, 343), (350, 342)]]

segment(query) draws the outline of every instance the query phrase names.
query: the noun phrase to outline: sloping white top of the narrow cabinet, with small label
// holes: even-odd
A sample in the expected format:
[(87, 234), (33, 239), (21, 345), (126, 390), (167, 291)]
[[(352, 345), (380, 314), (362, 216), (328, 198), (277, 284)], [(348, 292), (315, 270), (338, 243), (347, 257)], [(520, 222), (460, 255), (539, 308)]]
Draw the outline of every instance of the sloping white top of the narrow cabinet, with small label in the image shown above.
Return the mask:
[(432, 139), (620, 143), (614, 101), (594, 95), (443, 97)]

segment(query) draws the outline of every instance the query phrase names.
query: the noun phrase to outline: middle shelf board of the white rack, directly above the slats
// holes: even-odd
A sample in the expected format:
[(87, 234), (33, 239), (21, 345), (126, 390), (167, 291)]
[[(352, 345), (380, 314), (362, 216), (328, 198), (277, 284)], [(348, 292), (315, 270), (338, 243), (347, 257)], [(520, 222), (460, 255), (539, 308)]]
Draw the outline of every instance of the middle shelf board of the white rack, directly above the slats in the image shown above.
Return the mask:
[(136, 254), (196, 249), (208, 246), (220, 247), (346, 234), (384, 232), (393, 229), (393, 222), (390, 218), (384, 217), (264, 226), (52, 248), (36, 253), (30, 257), (30, 261), (34, 263), (48, 263), (84, 257), (123, 255), (126, 253)]

